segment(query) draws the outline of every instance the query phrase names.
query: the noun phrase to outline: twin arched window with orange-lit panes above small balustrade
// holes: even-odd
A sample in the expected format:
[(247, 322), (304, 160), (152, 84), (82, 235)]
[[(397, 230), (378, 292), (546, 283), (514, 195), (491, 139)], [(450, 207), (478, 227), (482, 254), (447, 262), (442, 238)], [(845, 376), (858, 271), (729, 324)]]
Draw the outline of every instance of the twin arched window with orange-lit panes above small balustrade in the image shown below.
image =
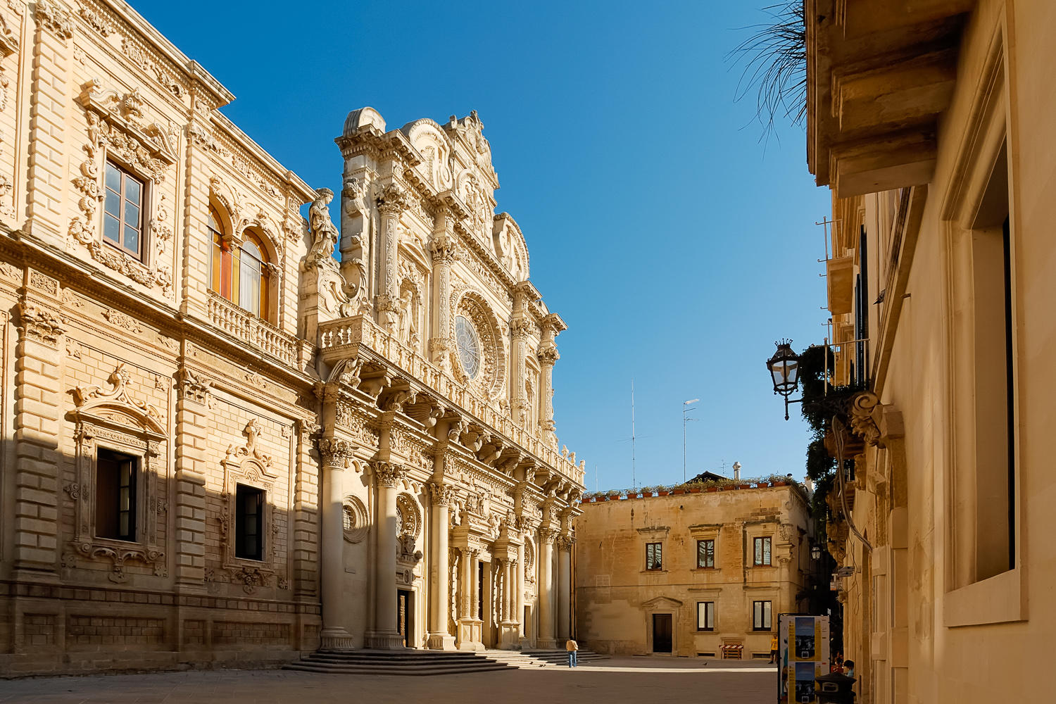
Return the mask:
[(220, 215), (209, 207), (212, 277), (209, 287), (259, 318), (268, 317), (267, 254), (260, 239), (246, 232), (241, 246), (225, 236)]

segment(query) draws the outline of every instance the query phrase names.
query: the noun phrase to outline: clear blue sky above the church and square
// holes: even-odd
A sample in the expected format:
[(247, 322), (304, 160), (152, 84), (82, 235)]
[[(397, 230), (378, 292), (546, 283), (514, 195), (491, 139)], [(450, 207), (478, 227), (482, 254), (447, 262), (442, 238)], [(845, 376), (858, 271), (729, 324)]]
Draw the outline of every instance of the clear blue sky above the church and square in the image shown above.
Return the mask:
[(773, 341), (821, 342), (827, 189), (802, 128), (763, 150), (727, 54), (762, 21), (744, 2), (317, 0), (133, 2), (235, 95), (223, 112), (312, 186), (341, 186), (350, 110), (390, 128), (478, 111), (525, 232), (531, 280), (569, 325), (555, 420), (588, 489), (689, 472), (802, 477), (806, 425), (784, 420)]

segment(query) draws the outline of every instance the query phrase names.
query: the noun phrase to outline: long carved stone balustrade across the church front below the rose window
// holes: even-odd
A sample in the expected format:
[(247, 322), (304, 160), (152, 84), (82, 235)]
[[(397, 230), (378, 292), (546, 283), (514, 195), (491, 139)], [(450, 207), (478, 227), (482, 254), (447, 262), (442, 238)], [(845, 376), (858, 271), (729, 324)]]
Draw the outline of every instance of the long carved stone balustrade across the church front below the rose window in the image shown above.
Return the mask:
[(385, 332), (370, 318), (354, 316), (320, 324), (319, 353), (331, 365), (356, 358), (369, 358), (372, 362), (384, 364), (400, 376), (423, 384), (440, 399), (475, 418), (482, 426), (533, 455), (542, 464), (552, 467), (562, 476), (583, 484), (584, 472), (574, 462), (514, 422), (495, 403), (477, 396), (417, 350)]

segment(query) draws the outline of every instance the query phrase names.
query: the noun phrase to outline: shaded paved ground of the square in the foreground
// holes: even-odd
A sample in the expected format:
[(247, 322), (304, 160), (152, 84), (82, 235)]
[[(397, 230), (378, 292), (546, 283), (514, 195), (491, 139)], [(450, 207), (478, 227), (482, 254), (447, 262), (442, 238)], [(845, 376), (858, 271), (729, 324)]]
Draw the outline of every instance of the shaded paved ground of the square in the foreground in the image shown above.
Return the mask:
[(222, 670), (0, 681), (0, 702), (33, 704), (770, 704), (773, 667), (698, 660), (612, 659), (574, 670), (380, 677)]

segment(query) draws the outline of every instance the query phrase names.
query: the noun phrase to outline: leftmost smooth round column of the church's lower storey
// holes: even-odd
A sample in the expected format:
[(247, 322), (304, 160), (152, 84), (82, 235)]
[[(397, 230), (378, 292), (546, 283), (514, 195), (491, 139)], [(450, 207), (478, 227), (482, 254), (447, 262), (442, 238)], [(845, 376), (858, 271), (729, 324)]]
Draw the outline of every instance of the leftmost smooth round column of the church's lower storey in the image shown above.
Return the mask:
[(322, 553), (319, 559), (322, 648), (353, 647), (352, 634), (344, 627), (344, 468), (352, 459), (352, 443), (347, 440), (319, 440), (319, 454), (323, 460)]

